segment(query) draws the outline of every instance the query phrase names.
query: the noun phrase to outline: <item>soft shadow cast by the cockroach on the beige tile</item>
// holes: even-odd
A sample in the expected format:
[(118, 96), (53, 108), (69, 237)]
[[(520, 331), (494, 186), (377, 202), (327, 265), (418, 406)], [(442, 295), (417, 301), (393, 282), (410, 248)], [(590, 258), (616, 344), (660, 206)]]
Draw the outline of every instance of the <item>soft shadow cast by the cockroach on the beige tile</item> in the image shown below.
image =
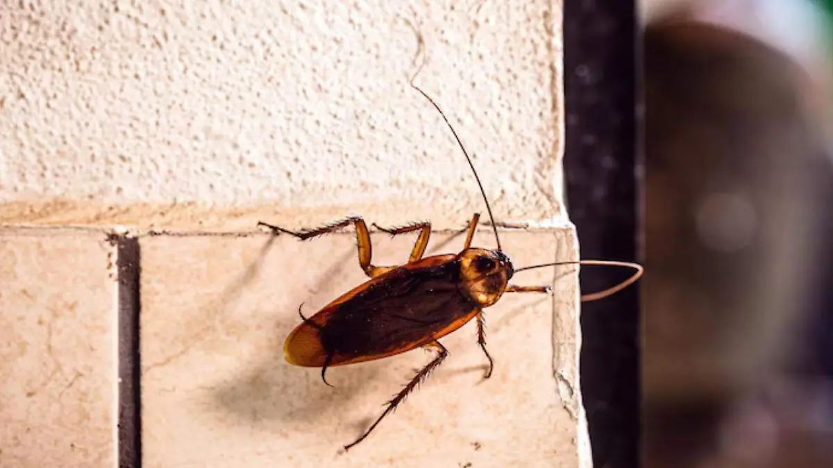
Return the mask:
[[(452, 241), (455, 241), (462, 233), (451, 233), (441, 242), (437, 242), (430, 251), (441, 251)], [(341, 234), (337, 234), (342, 236)], [(349, 235), (344, 235), (349, 236)], [(274, 241), (271, 236), (269, 242)], [(261, 250), (261, 256), (252, 266), (247, 268), (239, 281), (235, 281), (236, 288), (245, 288), (247, 284), (257, 280), (260, 276), (262, 259), (267, 255), (271, 246), (266, 244)], [(355, 247), (347, 247), (344, 253), (332, 261), (332, 265), (323, 271), (319, 280), (308, 288), (314, 296), (331, 296), (334, 291), (343, 285), (332, 278), (344, 276), (349, 268), (355, 268), (352, 258), (355, 256)], [(232, 298), (231, 291), (228, 298)], [(293, 303), (301, 304), (308, 297), (292, 298)], [(284, 313), (286, 312), (286, 313)], [(281, 311), (280, 318), (274, 321), (273, 340), (268, 348), (280, 349), (281, 338), (288, 331), (297, 325), (296, 311)], [(306, 376), (299, 377), (297, 370), (292, 369), (287, 362), (280, 359), (276, 353), (264, 353), (270, 356), (264, 358), (251, 366), (242, 369), (236, 376), (230, 377), (226, 382), (212, 389), (207, 403), (223, 411), (252, 423), (270, 426), (274, 421), (317, 421), (319, 418), (328, 417), (333, 411), (340, 411), (352, 406), (356, 396), (367, 390), (367, 381), (372, 381), (378, 374), (385, 372), (395, 363), (390, 361), (379, 361), (369, 366), (355, 366), (341, 369), (338, 372), (337, 386), (335, 389), (322, 386), (317, 372), (307, 372)], [(357, 427), (367, 421), (356, 421)]]

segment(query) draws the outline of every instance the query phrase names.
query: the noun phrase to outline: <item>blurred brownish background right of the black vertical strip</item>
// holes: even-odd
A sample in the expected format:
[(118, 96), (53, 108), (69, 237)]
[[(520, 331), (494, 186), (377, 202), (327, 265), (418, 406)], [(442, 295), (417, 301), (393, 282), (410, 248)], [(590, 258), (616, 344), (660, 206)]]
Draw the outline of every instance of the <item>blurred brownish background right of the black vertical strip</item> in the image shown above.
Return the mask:
[(642, 0), (644, 466), (833, 466), (829, 0)]

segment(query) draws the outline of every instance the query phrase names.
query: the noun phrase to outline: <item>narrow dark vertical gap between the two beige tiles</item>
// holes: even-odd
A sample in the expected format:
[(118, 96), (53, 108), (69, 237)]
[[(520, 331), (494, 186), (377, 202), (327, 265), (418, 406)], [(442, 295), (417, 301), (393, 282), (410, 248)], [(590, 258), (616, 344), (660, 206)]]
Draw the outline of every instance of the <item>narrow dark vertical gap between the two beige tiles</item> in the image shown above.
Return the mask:
[(118, 466), (142, 466), (142, 401), (139, 387), (139, 241), (114, 236), (118, 270)]

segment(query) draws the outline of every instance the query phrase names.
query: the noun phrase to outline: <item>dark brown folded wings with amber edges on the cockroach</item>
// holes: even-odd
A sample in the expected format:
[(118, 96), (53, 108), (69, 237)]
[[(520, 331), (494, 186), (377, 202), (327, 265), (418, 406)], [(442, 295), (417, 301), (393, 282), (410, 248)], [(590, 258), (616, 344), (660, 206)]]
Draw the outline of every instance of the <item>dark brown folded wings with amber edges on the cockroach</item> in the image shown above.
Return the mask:
[[(480, 309), (459, 288), (457, 256), (388, 271), (332, 301), (284, 344), (296, 366), (344, 366), (411, 351), (465, 325)], [(329, 359), (327, 358), (329, 356)]]

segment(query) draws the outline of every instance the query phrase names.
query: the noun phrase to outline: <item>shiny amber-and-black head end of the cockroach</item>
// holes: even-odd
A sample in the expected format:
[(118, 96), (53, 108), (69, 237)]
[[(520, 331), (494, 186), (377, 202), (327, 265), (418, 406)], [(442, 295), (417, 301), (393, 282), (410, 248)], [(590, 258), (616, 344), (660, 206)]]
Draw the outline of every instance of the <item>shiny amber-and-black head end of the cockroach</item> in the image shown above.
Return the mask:
[(460, 289), (481, 307), (497, 302), (515, 274), (509, 257), (501, 251), (466, 249), (459, 260)]

